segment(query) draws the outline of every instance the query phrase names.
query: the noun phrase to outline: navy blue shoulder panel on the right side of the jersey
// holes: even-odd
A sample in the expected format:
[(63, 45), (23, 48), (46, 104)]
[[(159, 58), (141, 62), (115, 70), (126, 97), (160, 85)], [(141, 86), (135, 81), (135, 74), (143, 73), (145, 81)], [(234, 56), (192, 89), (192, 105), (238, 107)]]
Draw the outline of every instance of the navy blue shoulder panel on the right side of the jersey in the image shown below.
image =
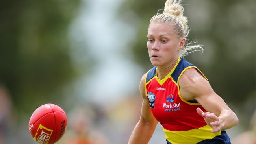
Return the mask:
[(176, 81), (176, 83), (178, 83), (178, 77), (180, 76), (180, 73), (187, 67), (189, 66), (195, 66), (191, 63), (189, 63), (188, 61), (186, 61), (186, 59), (184, 57), (182, 57), (180, 59), (180, 62), (178, 63), (177, 67), (175, 68), (175, 70), (173, 71), (173, 73), (171, 74), (171, 77), (173, 78), (174, 81)]

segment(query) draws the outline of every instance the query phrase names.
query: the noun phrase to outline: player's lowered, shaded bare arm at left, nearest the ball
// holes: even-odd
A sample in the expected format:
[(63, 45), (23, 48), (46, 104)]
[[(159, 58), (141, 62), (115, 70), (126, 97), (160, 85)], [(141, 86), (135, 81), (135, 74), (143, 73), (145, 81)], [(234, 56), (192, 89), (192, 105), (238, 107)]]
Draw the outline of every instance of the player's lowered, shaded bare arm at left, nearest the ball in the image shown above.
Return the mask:
[(145, 75), (141, 78), (141, 82), (139, 85), (139, 91), (143, 98), (141, 117), (137, 125), (134, 127), (128, 144), (147, 144), (152, 137), (158, 123), (150, 110), (149, 102), (145, 92), (144, 81)]

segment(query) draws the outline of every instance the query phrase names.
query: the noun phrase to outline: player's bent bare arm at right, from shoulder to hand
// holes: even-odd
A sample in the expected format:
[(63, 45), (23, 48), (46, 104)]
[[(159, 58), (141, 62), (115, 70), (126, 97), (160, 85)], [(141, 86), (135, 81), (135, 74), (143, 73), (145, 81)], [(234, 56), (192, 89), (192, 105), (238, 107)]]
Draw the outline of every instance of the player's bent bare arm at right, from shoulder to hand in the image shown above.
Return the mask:
[(200, 108), (197, 108), (197, 113), (213, 129), (212, 133), (230, 129), (237, 125), (238, 118), (236, 114), (213, 91), (208, 81), (195, 68), (186, 70), (181, 76), (179, 84), (180, 94), (184, 100), (195, 99), (208, 111), (208, 113), (204, 113)]

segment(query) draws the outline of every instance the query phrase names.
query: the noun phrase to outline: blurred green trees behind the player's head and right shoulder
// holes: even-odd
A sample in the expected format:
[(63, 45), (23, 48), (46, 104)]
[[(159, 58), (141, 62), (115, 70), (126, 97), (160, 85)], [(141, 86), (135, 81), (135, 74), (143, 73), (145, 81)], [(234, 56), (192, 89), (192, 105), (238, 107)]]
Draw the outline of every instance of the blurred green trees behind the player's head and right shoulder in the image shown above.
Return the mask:
[[(118, 17), (137, 30), (129, 47), (134, 61), (140, 63), (145, 72), (152, 67), (147, 52), (149, 20), (164, 8), (165, 1), (125, 0), (120, 6)], [(183, 4), (191, 27), (188, 38), (197, 39), (205, 49), (203, 55), (190, 54), (186, 59), (206, 74), (213, 89), (227, 103), (243, 106), (253, 98), (250, 105), (255, 109), (256, 1), (186, 0)]]

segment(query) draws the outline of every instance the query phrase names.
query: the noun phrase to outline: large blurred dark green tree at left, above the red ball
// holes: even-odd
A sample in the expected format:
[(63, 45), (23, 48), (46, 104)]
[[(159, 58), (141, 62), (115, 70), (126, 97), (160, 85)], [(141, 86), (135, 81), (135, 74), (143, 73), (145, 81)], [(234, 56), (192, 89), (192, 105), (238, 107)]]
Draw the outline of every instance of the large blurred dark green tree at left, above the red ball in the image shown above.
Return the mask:
[(17, 1), (0, 4), (0, 82), (23, 111), (45, 102), (74, 78), (69, 55), (69, 24), (79, 0)]

